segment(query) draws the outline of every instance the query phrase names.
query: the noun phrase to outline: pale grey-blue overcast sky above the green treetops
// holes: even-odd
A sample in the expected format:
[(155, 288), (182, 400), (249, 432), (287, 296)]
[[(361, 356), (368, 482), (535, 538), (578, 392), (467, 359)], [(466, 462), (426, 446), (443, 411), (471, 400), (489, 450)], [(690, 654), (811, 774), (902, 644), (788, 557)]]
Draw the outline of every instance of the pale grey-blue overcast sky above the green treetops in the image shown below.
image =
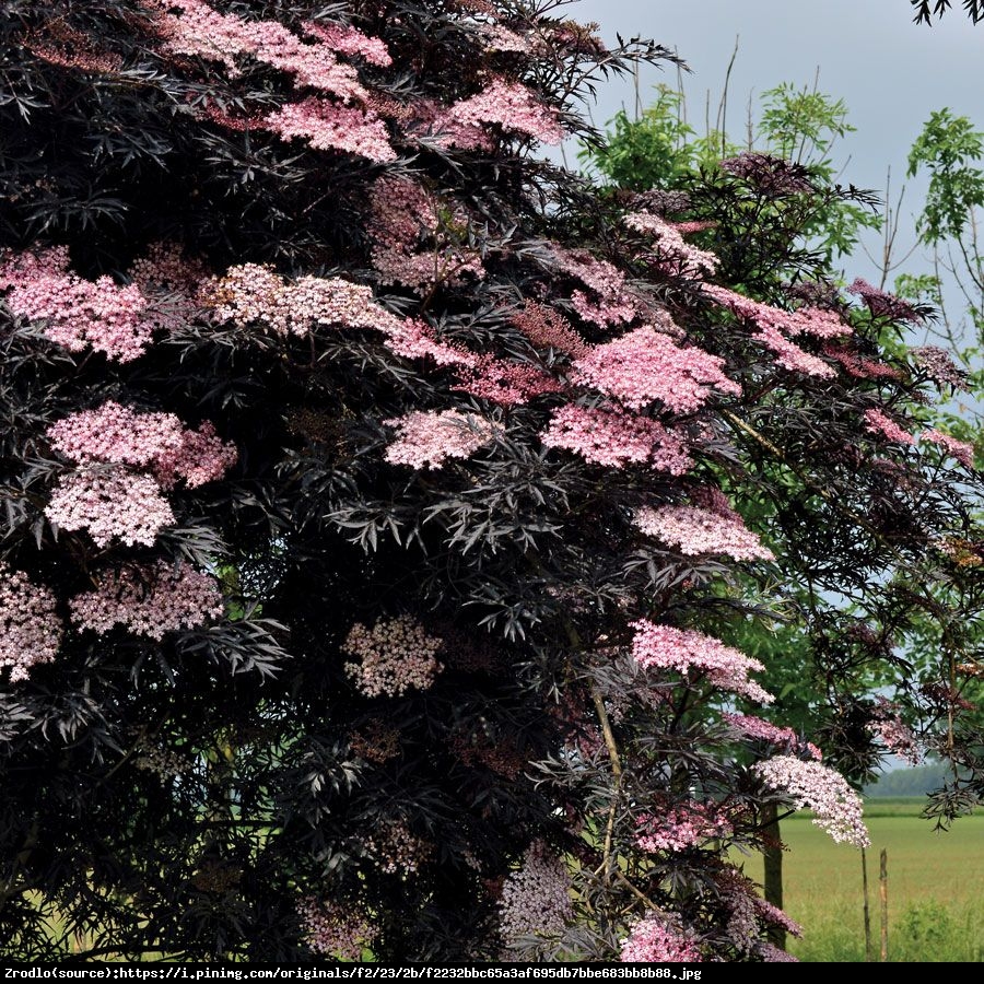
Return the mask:
[[(932, 110), (947, 106), (984, 129), (984, 24), (972, 25), (959, 0), (953, 8), (932, 27), (912, 22), (906, 0), (578, 0), (566, 11), (597, 22), (609, 43), (618, 32), (676, 49), (691, 69), (688, 118), (700, 130), (707, 90), (712, 120), (716, 113), (736, 38), (728, 90), (736, 136), (745, 132), (750, 93), (757, 99), (782, 82), (811, 85), (819, 67), (820, 90), (843, 98), (857, 127), (834, 151), (837, 164), (847, 162), (842, 180), (883, 190), (891, 166), (898, 190), (909, 148)], [(660, 81), (676, 84), (672, 67), (643, 75), (644, 99)], [(633, 104), (631, 83), (612, 82), (593, 117), (602, 124)], [(904, 212), (915, 208), (918, 190), (906, 192)]]

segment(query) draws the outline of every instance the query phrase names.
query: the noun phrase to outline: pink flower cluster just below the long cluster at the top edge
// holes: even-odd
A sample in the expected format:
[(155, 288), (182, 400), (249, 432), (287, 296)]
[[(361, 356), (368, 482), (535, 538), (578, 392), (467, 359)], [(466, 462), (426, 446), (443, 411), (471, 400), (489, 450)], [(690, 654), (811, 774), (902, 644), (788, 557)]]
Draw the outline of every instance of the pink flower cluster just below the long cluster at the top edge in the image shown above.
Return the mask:
[(302, 137), (315, 150), (347, 151), (376, 164), (397, 159), (386, 124), (375, 113), (317, 96), (308, 96), (300, 103), (284, 103), (263, 118), (262, 126), (281, 140)]

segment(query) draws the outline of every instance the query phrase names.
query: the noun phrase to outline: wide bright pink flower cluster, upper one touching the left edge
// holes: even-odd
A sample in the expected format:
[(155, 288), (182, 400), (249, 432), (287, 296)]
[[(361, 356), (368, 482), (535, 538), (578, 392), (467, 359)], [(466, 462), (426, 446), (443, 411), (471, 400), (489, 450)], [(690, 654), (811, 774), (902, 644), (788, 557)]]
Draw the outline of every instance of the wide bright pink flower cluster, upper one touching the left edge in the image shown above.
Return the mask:
[(136, 284), (109, 277), (83, 280), (69, 272), (68, 250), (0, 254), (0, 290), (17, 317), (44, 321), (45, 337), (70, 352), (91, 347), (130, 362), (150, 344), (159, 318)]

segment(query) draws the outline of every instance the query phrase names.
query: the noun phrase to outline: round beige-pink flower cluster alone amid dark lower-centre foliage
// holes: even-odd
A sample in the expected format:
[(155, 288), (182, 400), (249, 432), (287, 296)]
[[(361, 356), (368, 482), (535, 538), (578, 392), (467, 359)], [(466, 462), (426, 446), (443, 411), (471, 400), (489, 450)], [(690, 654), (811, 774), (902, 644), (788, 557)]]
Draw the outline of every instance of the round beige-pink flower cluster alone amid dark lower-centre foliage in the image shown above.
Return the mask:
[(398, 616), (372, 629), (356, 622), (341, 651), (358, 660), (345, 664), (345, 673), (366, 696), (401, 696), (433, 684), (444, 668), (435, 657), (441, 644), (410, 616)]

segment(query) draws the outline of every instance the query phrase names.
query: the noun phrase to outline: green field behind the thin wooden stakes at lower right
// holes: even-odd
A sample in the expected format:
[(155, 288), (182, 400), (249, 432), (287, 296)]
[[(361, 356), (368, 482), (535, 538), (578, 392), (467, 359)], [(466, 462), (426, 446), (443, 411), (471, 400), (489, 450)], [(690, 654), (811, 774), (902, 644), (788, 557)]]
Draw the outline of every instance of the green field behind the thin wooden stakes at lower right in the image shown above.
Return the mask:
[[(890, 961), (984, 960), (984, 815), (936, 832), (921, 820), (922, 799), (868, 800), (868, 891), (879, 959), (878, 866), (888, 851)], [(785, 909), (805, 927), (789, 950), (807, 961), (865, 959), (860, 852), (834, 844), (807, 815), (783, 821)], [(761, 881), (761, 857), (743, 858)]]

